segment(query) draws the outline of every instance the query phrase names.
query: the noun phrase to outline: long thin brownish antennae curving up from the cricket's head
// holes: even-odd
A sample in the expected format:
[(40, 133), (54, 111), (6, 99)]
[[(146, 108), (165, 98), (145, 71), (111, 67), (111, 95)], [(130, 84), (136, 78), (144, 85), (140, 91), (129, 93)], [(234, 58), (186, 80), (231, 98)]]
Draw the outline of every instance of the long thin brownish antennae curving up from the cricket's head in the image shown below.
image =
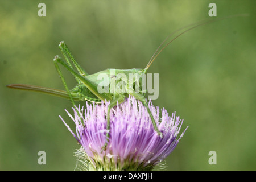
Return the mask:
[[(235, 17), (245, 17), (245, 16), (249, 16), (249, 14), (231, 15), (231, 16), (226, 16), (226, 17), (224, 17), (224, 18), (212, 19), (212, 20), (208, 20), (208, 21), (206, 21), (206, 20), (201, 20), (200, 22), (193, 23), (193, 24), (189, 24), (189, 25), (187, 25), (187, 26), (185, 26), (185, 27), (179, 28), (178, 30), (176, 30), (176, 31), (172, 32), (170, 35), (168, 35), (166, 39), (164, 39), (164, 41), (163, 41), (163, 42), (160, 44), (160, 46), (156, 49), (154, 55), (152, 55), (150, 61), (148, 61), (148, 64), (147, 64), (147, 66), (146, 66), (146, 68), (145, 68), (144, 70), (147, 71), (147, 69), (150, 67), (150, 65), (151, 65), (151, 64), (154, 62), (154, 60), (156, 59), (156, 57), (158, 57), (158, 55), (159, 55), (171, 42), (173, 42), (173, 41), (174, 41), (175, 39), (177, 39), (179, 36), (185, 34), (185, 32), (188, 32), (189, 30), (192, 30), (192, 29), (194, 29), (194, 28), (196, 28), (196, 27), (203, 26), (203, 25), (208, 24), (208, 23), (217, 22), (217, 21), (219, 21), (219, 20), (229, 19), (229, 18), (235, 18)], [(192, 27), (191, 27), (191, 26), (192, 26)], [(191, 28), (188, 28), (188, 27), (191, 27)], [(188, 28), (188, 29), (187, 29), (187, 30), (184, 30), (184, 31), (181, 32), (179, 35), (175, 36), (175, 38), (172, 39), (172, 40), (170, 40), (170, 42), (168, 42), (168, 43), (166, 44), (166, 46), (164, 46), (162, 49), (160, 49), (160, 48), (163, 46), (163, 44), (166, 42), (166, 40), (167, 40), (168, 38), (170, 38), (170, 36), (174, 35), (176, 32), (178, 32), (178, 31), (180, 31), (180, 30), (183, 30), (183, 29), (185, 29), (185, 28)], [(159, 51), (159, 49), (160, 49), (160, 51)]]

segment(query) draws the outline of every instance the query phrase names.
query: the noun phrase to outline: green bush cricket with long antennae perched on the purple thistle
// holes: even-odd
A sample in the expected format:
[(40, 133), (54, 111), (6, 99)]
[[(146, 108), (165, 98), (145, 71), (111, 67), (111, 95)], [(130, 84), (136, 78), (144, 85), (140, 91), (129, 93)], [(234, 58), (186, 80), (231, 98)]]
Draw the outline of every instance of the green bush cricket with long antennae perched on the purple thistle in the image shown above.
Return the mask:
[[(237, 15), (237, 16), (240, 16), (240, 15)], [(229, 16), (226, 18), (232, 18), (232, 17), (234, 17), (234, 16)], [(226, 19), (226, 18), (222, 18), (222, 19)], [(154, 126), (156, 133), (158, 133), (159, 137), (162, 137), (162, 132), (159, 131), (159, 129), (156, 125), (155, 119), (152, 116), (150, 109), (148, 108), (148, 102), (145, 98), (146, 90), (142, 90), (142, 83), (139, 80), (139, 77), (142, 74), (145, 74), (147, 72), (147, 69), (150, 67), (150, 65), (153, 63), (153, 61), (156, 59), (156, 57), (158, 57), (159, 53), (162, 52), (163, 49), (166, 48), (176, 38), (183, 35), (185, 32), (192, 30), (193, 28), (202, 26), (202, 25), (210, 23), (210, 22), (215, 22), (216, 20), (220, 20), (220, 19), (213, 19), (213, 20), (209, 20), (207, 22), (198, 22), (198, 23), (191, 24), (189, 26), (180, 28), (179, 30), (176, 30), (175, 32), (172, 32), (172, 34), (168, 35), (167, 38), (160, 44), (158, 49), (156, 49), (154, 55), (151, 57), (150, 61), (148, 62), (147, 66), (144, 69), (135, 69), (135, 68), (134, 69), (114, 69), (115, 70), (114, 75), (111, 73), (111, 69), (105, 69), (104, 71), (100, 71), (100, 72), (94, 73), (92, 75), (89, 75), (81, 67), (81, 65), (79, 63), (77, 63), (75, 57), (73, 57), (73, 55), (71, 54), (71, 51), (69, 51), (67, 45), (64, 42), (60, 42), (59, 48), (60, 48), (61, 52), (63, 53), (66, 63), (59, 56), (55, 56), (55, 58), (53, 59), (53, 63), (56, 67), (57, 73), (59, 74), (59, 76), (63, 82), (65, 90), (45, 88), (42, 86), (34, 86), (34, 85), (24, 85), (24, 84), (10, 84), (10, 85), (7, 85), (7, 87), (13, 88), (13, 89), (42, 92), (42, 93), (51, 94), (53, 96), (66, 98), (66, 99), (71, 100), (72, 105), (75, 108), (76, 108), (75, 101), (89, 101), (89, 102), (95, 102), (96, 104), (101, 104), (102, 101), (104, 101), (104, 102), (110, 101), (110, 104), (108, 106), (108, 112), (107, 112), (106, 143), (102, 147), (102, 150), (106, 149), (108, 141), (109, 141), (109, 137), (110, 137), (110, 135), (109, 135), (110, 109), (112, 109), (112, 107), (117, 105), (117, 103), (120, 104), (121, 102), (123, 102), (126, 97), (129, 97), (129, 94), (130, 94), (131, 96), (134, 96), (137, 100), (141, 101), (142, 104), (147, 108), (148, 114), (150, 115), (152, 125)], [(177, 31), (183, 30), (185, 28), (187, 28), (187, 29), (182, 31), (179, 35), (175, 36), (174, 39), (170, 40), (170, 42), (168, 42), (162, 49), (160, 49), (162, 47), (163, 43), (166, 42), (166, 40), (168, 38), (170, 38), (171, 35), (175, 34)], [(67, 84), (64, 80), (64, 77), (60, 71), (59, 64), (63, 65), (63, 67), (66, 68), (69, 72), (71, 72), (72, 75), (75, 77), (77, 86), (75, 86), (75, 88), (73, 88), (72, 90), (68, 89), (68, 86), (67, 86)], [(77, 71), (73, 68), (72, 65), (75, 66)], [(108, 76), (108, 78), (109, 78), (108, 84), (110, 84), (112, 79), (115, 78), (119, 73), (122, 73), (126, 76), (128, 76), (129, 74), (136, 74), (138, 77), (135, 77), (133, 80), (131, 80), (131, 82), (128, 82), (127, 80), (123, 80), (122, 77), (118, 78), (119, 80), (121, 80), (122, 82), (124, 82), (126, 84), (125, 91), (127, 91), (127, 92), (120, 93), (120, 92), (115, 92), (115, 90), (114, 90), (114, 92), (110, 92), (110, 93), (109, 92), (108, 93), (99, 92), (98, 86), (101, 83), (101, 80), (98, 79), (98, 76), (100, 74), (104, 74), (104, 75)], [(134, 91), (133, 88), (135, 88), (135, 87), (141, 88), (141, 91), (139, 91), (137, 93), (133, 92)], [(108, 91), (110, 91), (110, 89), (111, 88), (109, 88)]]

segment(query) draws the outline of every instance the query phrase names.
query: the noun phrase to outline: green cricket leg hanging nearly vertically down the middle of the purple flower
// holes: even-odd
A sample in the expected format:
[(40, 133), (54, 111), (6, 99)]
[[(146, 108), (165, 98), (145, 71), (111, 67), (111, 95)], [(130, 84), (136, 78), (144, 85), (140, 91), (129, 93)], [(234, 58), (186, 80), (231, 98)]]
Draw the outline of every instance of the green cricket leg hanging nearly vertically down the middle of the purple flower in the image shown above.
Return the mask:
[(113, 101), (110, 101), (110, 104), (108, 105), (108, 112), (107, 112), (107, 127), (106, 127), (106, 142), (104, 144), (104, 146), (101, 147), (101, 152), (106, 150), (106, 147), (108, 146), (109, 143), (109, 133), (110, 133), (110, 109), (112, 109), (114, 106), (118, 104), (121, 104), (123, 101), (125, 101), (125, 96), (123, 96), (122, 94), (117, 95), (117, 97), (115, 97), (113, 99)]

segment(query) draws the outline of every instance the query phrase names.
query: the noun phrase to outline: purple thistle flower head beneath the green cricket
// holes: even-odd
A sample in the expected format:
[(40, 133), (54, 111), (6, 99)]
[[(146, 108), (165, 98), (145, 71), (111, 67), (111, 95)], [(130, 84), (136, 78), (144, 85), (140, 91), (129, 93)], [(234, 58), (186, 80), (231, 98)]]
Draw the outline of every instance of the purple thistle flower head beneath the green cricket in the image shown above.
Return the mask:
[[(81, 144), (76, 156), (89, 170), (151, 170), (164, 160), (177, 146), (184, 132), (177, 139), (183, 119), (170, 115), (165, 109), (149, 108), (155, 118), (161, 138), (151, 122), (151, 118), (142, 102), (134, 97), (126, 98), (110, 111), (110, 137), (105, 151), (102, 146), (106, 142), (106, 113), (109, 102), (101, 105), (86, 103), (86, 108), (74, 110), (72, 118), (76, 124), (76, 134), (62, 119), (69, 131)], [(185, 129), (187, 130), (187, 128)]]

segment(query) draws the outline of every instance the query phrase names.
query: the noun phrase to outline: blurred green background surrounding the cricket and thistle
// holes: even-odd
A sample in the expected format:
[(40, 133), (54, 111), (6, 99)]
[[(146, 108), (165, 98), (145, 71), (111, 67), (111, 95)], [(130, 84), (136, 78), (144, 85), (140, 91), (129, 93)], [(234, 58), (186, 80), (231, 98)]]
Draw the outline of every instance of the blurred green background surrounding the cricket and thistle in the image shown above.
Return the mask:
[[(46, 3), (46, 17), (38, 4)], [(63, 89), (52, 63), (67, 43), (89, 73), (144, 68), (172, 31), (208, 16), (248, 13), (196, 28), (170, 44), (149, 73), (159, 73), (153, 103), (189, 125), (166, 159), (168, 170), (255, 170), (255, 1), (0, 1), (0, 169), (73, 170), (79, 148), (61, 122), (68, 100), (6, 88)], [(75, 86), (64, 71), (69, 88)], [(46, 165), (38, 152), (46, 151)], [(209, 151), (217, 164), (210, 165)]]

